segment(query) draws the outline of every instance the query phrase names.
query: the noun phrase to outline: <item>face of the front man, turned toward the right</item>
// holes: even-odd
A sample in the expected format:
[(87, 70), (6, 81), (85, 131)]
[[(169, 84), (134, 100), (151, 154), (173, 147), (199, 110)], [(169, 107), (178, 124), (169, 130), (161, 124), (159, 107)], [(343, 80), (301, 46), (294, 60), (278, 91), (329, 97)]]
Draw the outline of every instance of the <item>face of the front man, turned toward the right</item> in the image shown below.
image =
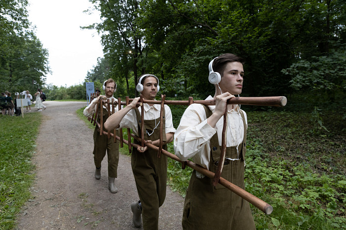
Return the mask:
[(243, 77), (243, 64), (240, 62), (228, 62), (223, 71), (221, 81), (218, 84), (222, 93), (229, 92), (232, 95), (241, 94), (243, 89)]

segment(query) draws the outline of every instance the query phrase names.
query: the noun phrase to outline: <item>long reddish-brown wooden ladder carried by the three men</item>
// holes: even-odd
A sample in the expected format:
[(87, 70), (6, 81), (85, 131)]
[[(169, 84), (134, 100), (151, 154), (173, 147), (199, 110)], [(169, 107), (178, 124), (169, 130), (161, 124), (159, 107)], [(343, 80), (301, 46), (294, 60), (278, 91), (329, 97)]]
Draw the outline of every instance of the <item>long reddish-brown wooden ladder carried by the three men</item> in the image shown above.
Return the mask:
[[(92, 96), (98, 96), (98, 95), (92, 95)], [(137, 103), (137, 107), (141, 106), (141, 120), (144, 120), (144, 108), (143, 104), (148, 103), (148, 104), (160, 104), (161, 105), (161, 111), (160, 111), (160, 130), (162, 130), (163, 126), (163, 108), (164, 105), (191, 105), (191, 104), (203, 104), (203, 105), (215, 105), (216, 101), (215, 100), (199, 100), (199, 101), (194, 101), (192, 97), (189, 97), (188, 101), (169, 101), (165, 100), (166, 95), (161, 95), (161, 101), (152, 101), (152, 100), (144, 100), (142, 96), (140, 96), (140, 101)], [(110, 139), (111, 136), (114, 138), (114, 142), (117, 140), (120, 141), (120, 146), (123, 148), (123, 143), (127, 144), (129, 146), (129, 153), (131, 153), (131, 147), (144, 147), (144, 122), (141, 122), (141, 137), (137, 137), (134, 134), (130, 133), (130, 129), (127, 130), (128, 132), (128, 140), (123, 139), (123, 131), (122, 129), (119, 129), (119, 136), (116, 136), (116, 130), (114, 130), (114, 135), (110, 133), (110, 131), (105, 132), (103, 130), (103, 106), (107, 106), (108, 109), (108, 115), (110, 115), (110, 106), (112, 106), (112, 111), (115, 109), (115, 105), (118, 105), (118, 110), (121, 110), (122, 105), (129, 105), (130, 102), (133, 101), (133, 99), (130, 99), (129, 97), (126, 97), (126, 101), (122, 102), (121, 98), (118, 98), (118, 102), (115, 102), (114, 99), (109, 101), (103, 101), (102, 99), (99, 100), (98, 104), (99, 106), (96, 107), (96, 113), (92, 115), (91, 118), (88, 118), (93, 125), (98, 126), (100, 135), (108, 135), (108, 139)], [(279, 96), (279, 97), (235, 97), (231, 98), (227, 101), (227, 104), (236, 104), (236, 105), (255, 105), (255, 106), (275, 106), (275, 107), (283, 107), (287, 103), (286, 97)], [(97, 116), (98, 116), (98, 110), (100, 110), (100, 123), (97, 122)], [(273, 211), (273, 207), (266, 203), (265, 201), (259, 199), (258, 197), (254, 196), (253, 194), (246, 192), (245, 190), (239, 188), (238, 186), (230, 183), (229, 181), (225, 180), (224, 178), (220, 177), (221, 172), (222, 172), (222, 166), (223, 162), (225, 159), (225, 150), (226, 150), (226, 136), (225, 136), (225, 130), (226, 130), (226, 125), (227, 125), (227, 108), (225, 110), (225, 113), (223, 115), (223, 129), (222, 129), (222, 144), (221, 144), (221, 153), (220, 153), (220, 163), (217, 166), (216, 173), (213, 173), (195, 163), (192, 161), (186, 160), (186, 161), (181, 161), (176, 155), (173, 153), (170, 153), (164, 149), (162, 149), (163, 146), (163, 135), (162, 132), (160, 132), (160, 144), (159, 147), (154, 146), (152, 144), (146, 143), (145, 145), (148, 148), (154, 149), (158, 151), (158, 157), (161, 157), (161, 154), (164, 154), (173, 160), (176, 160), (178, 162), (182, 163), (182, 169), (185, 168), (185, 166), (189, 166), (193, 168), (194, 170), (202, 173), (203, 175), (212, 178), (213, 179), (213, 185), (216, 186), (217, 183), (221, 184), (228, 190), (236, 193), (237, 195), (241, 196), (245, 200), (249, 201), (252, 203), (255, 207), (259, 208), (262, 212), (265, 214), (269, 215)], [(141, 143), (141, 145), (137, 145), (134, 143), (131, 143), (131, 137), (136, 139)]]

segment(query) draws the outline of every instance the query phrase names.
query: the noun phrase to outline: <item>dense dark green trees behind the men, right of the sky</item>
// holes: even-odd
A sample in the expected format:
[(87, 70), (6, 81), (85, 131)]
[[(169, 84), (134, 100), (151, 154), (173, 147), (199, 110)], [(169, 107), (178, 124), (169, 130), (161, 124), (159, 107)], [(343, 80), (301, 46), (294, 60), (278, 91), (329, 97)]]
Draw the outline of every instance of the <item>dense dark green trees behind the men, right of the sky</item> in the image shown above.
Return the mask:
[(244, 95), (345, 92), (345, 1), (90, 1), (103, 19), (88, 28), (102, 34), (106, 76), (126, 80), (130, 97), (152, 73), (167, 96), (205, 98), (208, 63), (225, 52), (246, 60)]

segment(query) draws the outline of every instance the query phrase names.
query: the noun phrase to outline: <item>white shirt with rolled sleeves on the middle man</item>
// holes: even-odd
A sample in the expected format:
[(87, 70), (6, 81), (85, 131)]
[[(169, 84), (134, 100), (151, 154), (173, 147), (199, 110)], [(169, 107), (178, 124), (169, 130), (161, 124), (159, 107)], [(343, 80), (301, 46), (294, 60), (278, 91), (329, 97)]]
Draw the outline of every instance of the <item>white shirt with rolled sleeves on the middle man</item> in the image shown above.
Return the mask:
[[(144, 119), (152, 120), (160, 117), (161, 105), (154, 104), (153, 106), (149, 106), (148, 104), (143, 104), (144, 106)], [(139, 114), (141, 114), (141, 107), (138, 107)], [(174, 133), (175, 128), (173, 127), (172, 120), (172, 112), (171, 108), (168, 105), (165, 105), (165, 131), (166, 133)], [(130, 110), (119, 124), (120, 128), (130, 128), (134, 135), (138, 136), (138, 121), (136, 112), (134, 109)], [(160, 124), (158, 124), (157, 128), (160, 128)]]

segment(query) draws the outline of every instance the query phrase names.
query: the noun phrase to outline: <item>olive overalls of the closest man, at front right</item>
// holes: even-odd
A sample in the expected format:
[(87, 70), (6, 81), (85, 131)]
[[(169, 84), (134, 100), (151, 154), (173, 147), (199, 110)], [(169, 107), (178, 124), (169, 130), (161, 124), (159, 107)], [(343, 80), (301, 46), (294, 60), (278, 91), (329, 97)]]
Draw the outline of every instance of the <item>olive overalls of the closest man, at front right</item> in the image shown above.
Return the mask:
[[(212, 111), (204, 106), (207, 118)], [(244, 123), (244, 140), (238, 147), (241, 160), (225, 159), (221, 177), (245, 189), (244, 183), (244, 157), (246, 153), (246, 122), (242, 111), (240, 114)], [(210, 140), (211, 157), (209, 170), (216, 172), (220, 157), (217, 132)], [(226, 148), (226, 157), (236, 159), (235, 147)], [(194, 170), (184, 203), (182, 227), (184, 230), (254, 230), (256, 229), (251, 213), (250, 204), (237, 194), (229, 191), (220, 184), (216, 187), (213, 179), (197, 178)]]

